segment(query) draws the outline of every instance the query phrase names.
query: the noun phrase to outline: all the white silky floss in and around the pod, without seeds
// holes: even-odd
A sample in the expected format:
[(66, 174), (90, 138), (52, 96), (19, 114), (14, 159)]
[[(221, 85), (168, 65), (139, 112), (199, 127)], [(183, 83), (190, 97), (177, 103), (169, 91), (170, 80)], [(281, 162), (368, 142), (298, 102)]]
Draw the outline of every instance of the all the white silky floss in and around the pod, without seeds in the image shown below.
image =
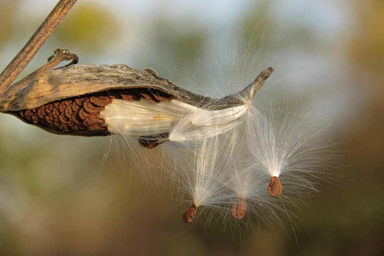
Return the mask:
[[(132, 158), (150, 163), (154, 150), (163, 149), (163, 169), (169, 171), (164, 175), (176, 184), (182, 200), (199, 206), (197, 215), (208, 210), (212, 216), (213, 210), (228, 221), (231, 207), (241, 198), (247, 205), (247, 223), (261, 220), (284, 226), (282, 217), (291, 220), (292, 216), (285, 203), (299, 207), (303, 197), (316, 191), (317, 181), (327, 177), (333, 153), (324, 143), (326, 128), (318, 122), (319, 115), (297, 98), (286, 100), (290, 98), (287, 81), (296, 82), (291, 74), (296, 67), (274, 53), (270, 42), (259, 39), (239, 37), (232, 49), (224, 46), (225, 50), (204, 55), (208, 64), (203, 63), (201, 71), (209, 78), (205, 82), (194, 75), (189, 82), (176, 83), (189, 89), (208, 88), (204, 95), (221, 98), (241, 91), (261, 71), (274, 67), (255, 99), (240, 99), (243, 105), (210, 110), (212, 106), (196, 107), (176, 99), (112, 100), (101, 116), (109, 131), (123, 135), (128, 154), (138, 148), (147, 157), (134, 153)], [(170, 142), (156, 149), (137, 143), (137, 136), (163, 132), (169, 132), (164, 140)], [(164, 161), (168, 157), (171, 165)], [(273, 176), (282, 182), (277, 197), (267, 190)]]

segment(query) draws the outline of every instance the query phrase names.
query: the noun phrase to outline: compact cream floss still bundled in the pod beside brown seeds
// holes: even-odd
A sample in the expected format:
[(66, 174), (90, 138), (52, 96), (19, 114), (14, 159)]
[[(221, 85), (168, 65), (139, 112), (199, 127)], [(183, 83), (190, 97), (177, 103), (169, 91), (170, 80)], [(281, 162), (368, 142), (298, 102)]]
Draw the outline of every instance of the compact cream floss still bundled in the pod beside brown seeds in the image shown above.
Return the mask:
[[(172, 130), (170, 141), (210, 138), (236, 126), (247, 105), (222, 110), (206, 110), (177, 99), (171, 102), (112, 100), (100, 112), (108, 130), (127, 136), (156, 135)], [(172, 128), (174, 123), (175, 128)]]

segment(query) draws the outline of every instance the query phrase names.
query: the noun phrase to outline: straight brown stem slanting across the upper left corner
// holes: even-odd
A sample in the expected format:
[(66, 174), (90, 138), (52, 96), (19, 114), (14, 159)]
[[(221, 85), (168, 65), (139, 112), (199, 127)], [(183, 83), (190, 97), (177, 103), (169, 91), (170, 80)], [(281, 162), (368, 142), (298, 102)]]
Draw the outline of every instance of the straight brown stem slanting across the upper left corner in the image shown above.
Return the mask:
[(41, 26), (36, 30), (22, 50), (13, 58), (8, 66), (0, 74), (0, 96), (6, 91), (9, 85), (20, 75), (29, 61), (37, 51), (43, 46), (51, 36), (56, 27), (64, 19), (67, 13), (77, 0), (59, 0), (45, 19)]

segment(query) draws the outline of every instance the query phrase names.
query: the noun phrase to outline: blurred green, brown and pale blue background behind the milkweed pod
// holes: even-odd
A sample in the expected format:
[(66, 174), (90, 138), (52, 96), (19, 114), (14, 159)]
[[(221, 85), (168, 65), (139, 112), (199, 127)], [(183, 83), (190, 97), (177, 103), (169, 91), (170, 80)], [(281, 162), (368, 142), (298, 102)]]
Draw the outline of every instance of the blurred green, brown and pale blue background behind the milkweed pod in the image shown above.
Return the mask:
[[(55, 4), (0, 1), (1, 70)], [(151, 67), (176, 83), (212, 42), (245, 27), (272, 39), (262, 44), (283, 56), (283, 69), (300, 70), (287, 83), (309, 89), (343, 154), (338, 178), (296, 211), (294, 230), (185, 225), (172, 189), (145, 184), (118, 154), (102, 164), (109, 138), (52, 135), (0, 114), (0, 254), (382, 255), (382, 0), (78, 0), (18, 79), (64, 48), (84, 64)]]

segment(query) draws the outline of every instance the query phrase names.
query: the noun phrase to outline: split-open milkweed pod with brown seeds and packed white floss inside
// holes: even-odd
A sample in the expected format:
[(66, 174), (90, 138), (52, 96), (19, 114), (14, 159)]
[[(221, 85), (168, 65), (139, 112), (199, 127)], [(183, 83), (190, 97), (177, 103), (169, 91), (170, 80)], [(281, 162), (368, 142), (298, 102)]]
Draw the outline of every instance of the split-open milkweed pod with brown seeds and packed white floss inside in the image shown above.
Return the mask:
[[(63, 60), (72, 62), (53, 69)], [(153, 69), (77, 61), (76, 54), (56, 49), (47, 64), (2, 93), (0, 111), (56, 134), (137, 136), (141, 146), (154, 148), (180, 121), (207, 131), (233, 123), (274, 71), (268, 68), (239, 93), (215, 99), (180, 88)]]

